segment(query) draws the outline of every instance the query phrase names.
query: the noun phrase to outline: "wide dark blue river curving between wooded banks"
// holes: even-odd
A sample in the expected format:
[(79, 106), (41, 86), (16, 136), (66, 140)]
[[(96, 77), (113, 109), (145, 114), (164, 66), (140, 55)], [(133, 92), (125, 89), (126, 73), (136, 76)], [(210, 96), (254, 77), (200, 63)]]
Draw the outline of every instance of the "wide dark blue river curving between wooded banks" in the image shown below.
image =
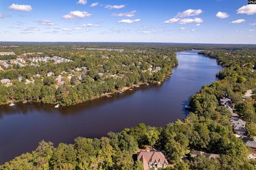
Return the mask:
[(77, 136), (106, 136), (139, 123), (165, 126), (183, 120), (189, 96), (218, 80), (215, 74), (222, 69), (215, 59), (197, 53), (178, 52), (179, 66), (161, 85), (58, 109), (41, 103), (0, 106), (0, 164), (34, 150), (41, 140), (72, 143)]

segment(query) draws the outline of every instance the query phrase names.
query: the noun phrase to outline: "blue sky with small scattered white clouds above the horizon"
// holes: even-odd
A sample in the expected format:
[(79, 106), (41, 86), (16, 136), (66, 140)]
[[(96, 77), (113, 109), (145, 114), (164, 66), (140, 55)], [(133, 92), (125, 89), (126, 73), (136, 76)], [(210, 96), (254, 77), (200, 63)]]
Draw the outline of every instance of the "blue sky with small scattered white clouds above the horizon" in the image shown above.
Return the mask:
[(247, 0), (0, 0), (0, 23), (0, 41), (256, 42)]

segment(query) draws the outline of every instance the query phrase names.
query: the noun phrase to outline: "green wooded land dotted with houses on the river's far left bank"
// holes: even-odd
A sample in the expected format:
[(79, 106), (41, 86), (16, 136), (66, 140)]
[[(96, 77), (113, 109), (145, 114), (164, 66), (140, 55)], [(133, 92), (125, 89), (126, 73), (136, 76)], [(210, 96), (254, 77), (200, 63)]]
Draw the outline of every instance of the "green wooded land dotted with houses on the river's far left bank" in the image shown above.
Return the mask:
[[(13, 64), (11, 68), (0, 71), (0, 79), (11, 80), (7, 85), (0, 85), (0, 104), (34, 101), (73, 105), (123, 87), (163, 82), (165, 76), (171, 74), (172, 67), (178, 64), (175, 54), (167, 50), (108, 51), (85, 50), (81, 46), (18, 46), (2, 47), (0, 51), (15, 52), (16, 58), (27, 63), (31, 63), (28, 58), (44, 56), (60, 56), (73, 61), (58, 64), (40, 61), (35, 66), (26, 64), (25, 67)], [(13, 55), (0, 56), (0, 60), (7, 58), (14, 59)], [(49, 72), (52, 75), (48, 77)], [(58, 77), (61, 77), (62, 84), (58, 85)]]

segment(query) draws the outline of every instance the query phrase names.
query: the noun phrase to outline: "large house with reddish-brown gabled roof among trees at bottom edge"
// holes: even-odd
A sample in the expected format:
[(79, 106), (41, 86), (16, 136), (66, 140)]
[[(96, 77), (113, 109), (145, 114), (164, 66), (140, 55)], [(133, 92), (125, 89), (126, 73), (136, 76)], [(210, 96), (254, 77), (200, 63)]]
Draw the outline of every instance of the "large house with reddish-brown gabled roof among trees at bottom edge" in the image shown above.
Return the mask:
[(149, 168), (165, 168), (168, 165), (168, 161), (163, 153), (156, 150), (138, 152), (137, 160), (142, 161), (143, 170), (149, 170)]

